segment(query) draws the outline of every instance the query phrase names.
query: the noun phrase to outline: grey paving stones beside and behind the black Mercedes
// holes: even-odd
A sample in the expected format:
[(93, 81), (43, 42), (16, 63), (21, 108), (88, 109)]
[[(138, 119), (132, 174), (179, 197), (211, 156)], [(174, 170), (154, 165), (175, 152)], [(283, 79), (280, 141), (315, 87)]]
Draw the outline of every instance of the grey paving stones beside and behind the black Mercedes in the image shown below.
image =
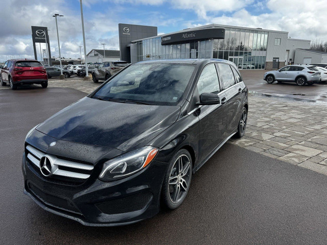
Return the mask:
[[(49, 87), (86, 93), (100, 85), (76, 78), (49, 80)], [(327, 175), (327, 104), (249, 94), (249, 108), (245, 136), (230, 143)]]

